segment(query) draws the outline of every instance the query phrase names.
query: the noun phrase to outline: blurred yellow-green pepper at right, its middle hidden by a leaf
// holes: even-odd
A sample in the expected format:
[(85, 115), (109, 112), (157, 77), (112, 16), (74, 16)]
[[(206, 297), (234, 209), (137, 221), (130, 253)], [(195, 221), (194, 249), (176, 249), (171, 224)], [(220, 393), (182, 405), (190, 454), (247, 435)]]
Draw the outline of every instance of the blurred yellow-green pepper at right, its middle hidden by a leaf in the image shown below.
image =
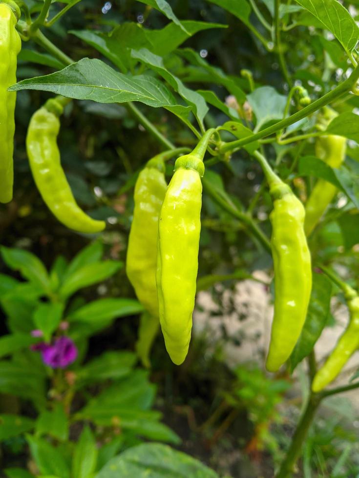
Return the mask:
[[(321, 136), (316, 141), (316, 156), (328, 166), (338, 168), (345, 159), (346, 139), (341, 136)], [(304, 230), (309, 236), (326, 208), (334, 199), (338, 189), (324, 179), (318, 179), (311, 195), (305, 204)]]

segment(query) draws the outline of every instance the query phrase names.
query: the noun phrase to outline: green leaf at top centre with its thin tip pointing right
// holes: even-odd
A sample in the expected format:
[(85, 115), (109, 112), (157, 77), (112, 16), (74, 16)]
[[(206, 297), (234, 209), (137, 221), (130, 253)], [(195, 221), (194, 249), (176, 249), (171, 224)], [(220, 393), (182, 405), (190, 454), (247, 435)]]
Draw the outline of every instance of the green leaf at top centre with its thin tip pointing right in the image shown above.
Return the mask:
[[(222, 25), (220, 23), (210, 23), (207, 21), (184, 20), (182, 21), (182, 24), (185, 25), (188, 33), (185, 33), (178, 25), (173, 22), (169, 23), (161, 30), (143, 30), (150, 43), (150, 45), (146, 46), (146, 48), (156, 55), (165, 57), (197, 32), (211, 28), (227, 28), (227, 25)], [(135, 46), (131, 46), (131, 48), (136, 50), (139, 49)]]

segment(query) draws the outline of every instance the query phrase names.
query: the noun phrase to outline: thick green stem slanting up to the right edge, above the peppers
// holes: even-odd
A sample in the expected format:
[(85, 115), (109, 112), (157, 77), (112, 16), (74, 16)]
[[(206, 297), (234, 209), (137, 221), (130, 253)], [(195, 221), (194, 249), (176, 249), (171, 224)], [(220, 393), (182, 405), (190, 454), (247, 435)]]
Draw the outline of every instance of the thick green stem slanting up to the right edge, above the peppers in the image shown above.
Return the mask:
[(299, 121), (299, 119), (306, 118), (307, 116), (314, 113), (321, 107), (337, 99), (339, 96), (349, 92), (356, 85), (358, 79), (359, 79), (359, 66), (357, 66), (353, 70), (349, 78), (347, 78), (345, 81), (340, 83), (336, 88), (334, 88), (334, 90), (329, 91), (318, 100), (313, 101), (313, 103), (309, 104), (308, 106), (305, 106), (305, 108), (303, 108), (302, 110), (297, 111), (296, 113), (289, 116), (288, 118), (281, 119), (277, 123), (269, 126), (268, 128), (263, 129), (262, 131), (258, 131), (258, 133), (255, 133), (252, 136), (247, 136), (246, 138), (237, 139), (235, 141), (230, 141), (228, 143), (223, 144), (219, 148), (219, 153), (223, 154), (223, 153), (226, 153), (227, 151), (233, 151), (233, 152), (237, 151), (245, 144), (252, 143), (253, 141), (256, 141), (257, 139), (266, 138), (267, 136), (270, 136), (276, 133), (277, 131), (283, 128), (286, 128), (287, 126), (290, 126), (296, 121)]

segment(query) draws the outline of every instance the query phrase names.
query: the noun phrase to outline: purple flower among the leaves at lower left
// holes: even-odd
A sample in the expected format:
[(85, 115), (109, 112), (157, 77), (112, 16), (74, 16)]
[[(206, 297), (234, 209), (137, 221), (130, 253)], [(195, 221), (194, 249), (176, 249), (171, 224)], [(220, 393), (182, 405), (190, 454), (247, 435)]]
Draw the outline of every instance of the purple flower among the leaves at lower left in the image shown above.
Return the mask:
[(52, 368), (65, 368), (77, 357), (77, 348), (68, 337), (59, 337), (51, 344), (38, 343), (32, 350), (39, 350), (45, 365)]

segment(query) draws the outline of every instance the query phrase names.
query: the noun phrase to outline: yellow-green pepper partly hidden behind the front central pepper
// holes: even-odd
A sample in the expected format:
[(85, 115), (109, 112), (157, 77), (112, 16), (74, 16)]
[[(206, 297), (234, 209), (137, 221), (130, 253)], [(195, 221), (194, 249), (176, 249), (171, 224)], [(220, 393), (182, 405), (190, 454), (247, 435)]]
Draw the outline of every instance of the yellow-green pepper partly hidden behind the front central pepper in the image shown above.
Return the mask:
[(157, 319), (158, 216), (167, 190), (164, 161), (184, 151), (188, 149), (166, 151), (150, 159), (135, 185), (135, 207), (128, 238), (126, 272), (138, 299)]

